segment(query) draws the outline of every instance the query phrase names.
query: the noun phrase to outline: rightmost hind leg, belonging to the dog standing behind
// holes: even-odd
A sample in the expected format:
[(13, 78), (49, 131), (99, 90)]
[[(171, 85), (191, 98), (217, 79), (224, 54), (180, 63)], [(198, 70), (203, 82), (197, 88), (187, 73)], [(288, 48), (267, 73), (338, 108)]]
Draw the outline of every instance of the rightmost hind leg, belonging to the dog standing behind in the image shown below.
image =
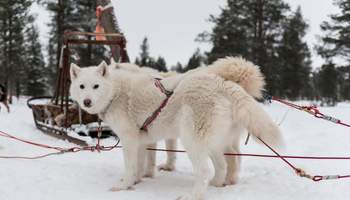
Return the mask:
[[(230, 146), (226, 148), (227, 153), (240, 153), (238, 150), (238, 146)], [(234, 185), (238, 181), (238, 172), (241, 165), (241, 157), (240, 156), (226, 156), (227, 162), (227, 174), (226, 174), (226, 185)]]

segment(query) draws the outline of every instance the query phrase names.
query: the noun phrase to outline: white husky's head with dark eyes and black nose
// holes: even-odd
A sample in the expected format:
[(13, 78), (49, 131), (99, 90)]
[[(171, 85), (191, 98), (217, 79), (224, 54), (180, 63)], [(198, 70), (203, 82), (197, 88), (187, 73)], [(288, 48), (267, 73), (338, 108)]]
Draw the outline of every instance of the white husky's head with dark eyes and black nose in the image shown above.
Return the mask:
[(70, 94), (81, 108), (90, 114), (103, 112), (116, 94), (106, 62), (98, 66), (80, 68), (72, 63), (70, 67), (72, 84)]

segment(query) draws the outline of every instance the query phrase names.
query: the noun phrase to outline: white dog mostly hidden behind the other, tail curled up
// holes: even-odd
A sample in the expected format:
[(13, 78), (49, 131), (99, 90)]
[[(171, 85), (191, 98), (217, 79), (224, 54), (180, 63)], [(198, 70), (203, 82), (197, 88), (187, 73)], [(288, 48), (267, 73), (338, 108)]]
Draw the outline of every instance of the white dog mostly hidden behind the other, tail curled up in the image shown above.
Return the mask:
[[(135, 73), (148, 73), (151, 76), (154, 76), (155, 78), (168, 78), (173, 76), (182, 76), (181, 74), (177, 74), (176, 72), (158, 72), (157, 70), (154, 70), (149, 67), (140, 67), (135, 64), (131, 63), (124, 63), (124, 64), (118, 64), (115, 62), (113, 58), (111, 58), (111, 68), (112, 69), (124, 69), (133, 71)], [(261, 99), (262, 98), (262, 92), (264, 90), (265, 81), (264, 77), (259, 69), (258, 66), (254, 65), (251, 62), (246, 61), (243, 58), (227, 58), (227, 59), (220, 59), (217, 62), (213, 63), (210, 66), (201, 66), (199, 68), (196, 68), (195, 70), (191, 70), (187, 73), (193, 73), (196, 71), (205, 71), (207, 73), (216, 74), (222, 78), (224, 78), (227, 81), (232, 81), (240, 86), (243, 87), (243, 89), (246, 90), (248, 94), (251, 96)], [(173, 88), (170, 88), (171, 90)], [(239, 143), (239, 140), (237, 139), (236, 143)], [(174, 150), (177, 147), (177, 140), (176, 139), (168, 139), (166, 140), (166, 149), (167, 150)], [(156, 144), (150, 144), (147, 146), (148, 148), (155, 149), (157, 147)], [(239, 153), (239, 147), (238, 145), (233, 145), (231, 149), (227, 149), (230, 153)], [(155, 166), (156, 166), (156, 151), (148, 151), (147, 152), (147, 162), (146, 162), (146, 168), (144, 172), (145, 177), (154, 177), (155, 172)], [(158, 166), (159, 170), (165, 170), (165, 171), (173, 171), (175, 170), (175, 160), (176, 160), (176, 153), (172, 151), (167, 151), (167, 160), (166, 163), (161, 164)], [(211, 182), (211, 185), (214, 186), (224, 186), (224, 185), (233, 185), (237, 182), (238, 179), (238, 172), (240, 168), (240, 157), (226, 157), (227, 160), (227, 175), (226, 175), (226, 181), (225, 183), (215, 183), (215, 181)], [(217, 168), (219, 169), (219, 168)]]

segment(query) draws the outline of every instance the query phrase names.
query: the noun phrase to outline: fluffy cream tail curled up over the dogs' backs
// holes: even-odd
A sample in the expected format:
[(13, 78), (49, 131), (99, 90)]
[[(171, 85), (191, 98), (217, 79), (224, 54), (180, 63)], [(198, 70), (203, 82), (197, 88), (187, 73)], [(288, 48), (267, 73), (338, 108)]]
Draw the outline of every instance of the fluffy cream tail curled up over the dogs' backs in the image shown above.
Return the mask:
[(209, 65), (206, 70), (225, 80), (239, 84), (248, 94), (255, 98), (262, 97), (262, 91), (265, 86), (263, 74), (258, 66), (241, 57), (219, 59)]

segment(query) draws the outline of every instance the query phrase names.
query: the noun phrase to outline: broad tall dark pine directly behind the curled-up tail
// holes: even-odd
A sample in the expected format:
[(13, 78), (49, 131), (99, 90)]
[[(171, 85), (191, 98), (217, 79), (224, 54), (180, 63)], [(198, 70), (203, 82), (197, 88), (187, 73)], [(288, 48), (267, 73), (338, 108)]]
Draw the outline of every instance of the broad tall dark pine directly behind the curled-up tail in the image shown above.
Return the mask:
[(228, 0), (221, 14), (210, 18), (214, 23), (212, 33), (201, 37), (213, 44), (208, 52), (209, 63), (225, 56), (243, 56), (261, 66), (267, 89), (275, 93), (278, 88), (275, 49), (288, 10), (283, 0)]

